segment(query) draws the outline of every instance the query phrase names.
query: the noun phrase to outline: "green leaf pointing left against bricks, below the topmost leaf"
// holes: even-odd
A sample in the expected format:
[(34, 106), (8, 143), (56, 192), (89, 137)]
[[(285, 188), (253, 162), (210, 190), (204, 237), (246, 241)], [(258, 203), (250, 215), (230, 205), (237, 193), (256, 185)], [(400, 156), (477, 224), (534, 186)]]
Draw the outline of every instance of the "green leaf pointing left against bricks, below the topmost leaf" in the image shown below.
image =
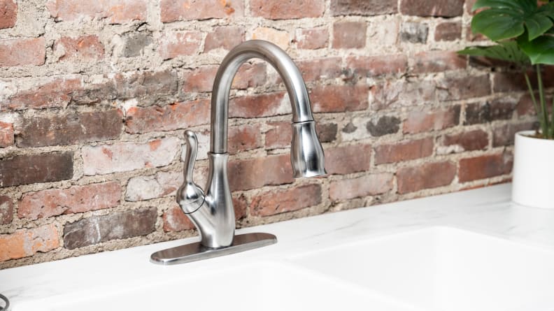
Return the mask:
[(506, 62), (513, 62), (519, 65), (530, 64), (529, 57), (518, 48), (515, 41), (506, 41), (498, 45), (474, 46), (465, 48), (458, 52), (462, 55), (482, 56), (493, 59), (500, 59)]

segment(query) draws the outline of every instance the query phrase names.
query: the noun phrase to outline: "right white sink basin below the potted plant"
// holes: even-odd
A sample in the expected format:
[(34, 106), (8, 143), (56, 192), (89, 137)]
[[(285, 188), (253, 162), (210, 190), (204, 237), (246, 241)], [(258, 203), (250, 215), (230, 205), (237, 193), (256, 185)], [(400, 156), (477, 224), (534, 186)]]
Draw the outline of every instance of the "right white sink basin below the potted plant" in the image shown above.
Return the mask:
[(291, 261), (420, 310), (554, 310), (554, 252), (429, 227)]

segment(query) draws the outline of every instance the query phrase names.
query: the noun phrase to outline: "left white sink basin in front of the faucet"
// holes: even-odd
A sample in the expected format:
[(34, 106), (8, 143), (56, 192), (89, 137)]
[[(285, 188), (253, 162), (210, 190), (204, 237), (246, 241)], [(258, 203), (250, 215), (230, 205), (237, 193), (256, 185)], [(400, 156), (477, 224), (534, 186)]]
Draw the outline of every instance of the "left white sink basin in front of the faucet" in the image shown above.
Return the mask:
[(13, 311), (97, 310), (411, 310), (386, 297), (329, 280), (312, 270), (281, 263), (256, 263), (215, 270), (172, 282), (62, 295), (13, 306)]

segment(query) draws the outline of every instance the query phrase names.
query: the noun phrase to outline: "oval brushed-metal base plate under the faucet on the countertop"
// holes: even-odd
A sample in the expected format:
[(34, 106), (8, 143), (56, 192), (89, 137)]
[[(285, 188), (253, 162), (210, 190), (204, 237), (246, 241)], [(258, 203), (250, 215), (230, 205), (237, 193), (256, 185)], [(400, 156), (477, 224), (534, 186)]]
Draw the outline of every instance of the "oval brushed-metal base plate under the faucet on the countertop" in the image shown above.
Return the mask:
[(244, 252), (246, 250), (264, 247), (277, 243), (277, 237), (269, 233), (245, 233), (234, 236), (233, 244), (222, 248), (208, 248), (199, 242), (171, 247), (155, 252), (150, 256), (150, 262), (159, 265), (175, 265), (203, 259)]

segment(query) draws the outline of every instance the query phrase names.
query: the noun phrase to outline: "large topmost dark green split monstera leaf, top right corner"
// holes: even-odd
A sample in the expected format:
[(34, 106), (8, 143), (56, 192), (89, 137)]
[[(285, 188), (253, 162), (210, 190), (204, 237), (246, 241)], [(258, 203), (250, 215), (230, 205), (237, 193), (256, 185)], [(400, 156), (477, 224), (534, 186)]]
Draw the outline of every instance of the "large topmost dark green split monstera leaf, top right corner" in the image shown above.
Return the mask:
[(488, 8), (471, 20), (471, 30), (492, 41), (516, 38), (527, 31), (532, 41), (552, 28), (554, 2), (537, 5), (537, 0), (477, 0), (473, 10)]

